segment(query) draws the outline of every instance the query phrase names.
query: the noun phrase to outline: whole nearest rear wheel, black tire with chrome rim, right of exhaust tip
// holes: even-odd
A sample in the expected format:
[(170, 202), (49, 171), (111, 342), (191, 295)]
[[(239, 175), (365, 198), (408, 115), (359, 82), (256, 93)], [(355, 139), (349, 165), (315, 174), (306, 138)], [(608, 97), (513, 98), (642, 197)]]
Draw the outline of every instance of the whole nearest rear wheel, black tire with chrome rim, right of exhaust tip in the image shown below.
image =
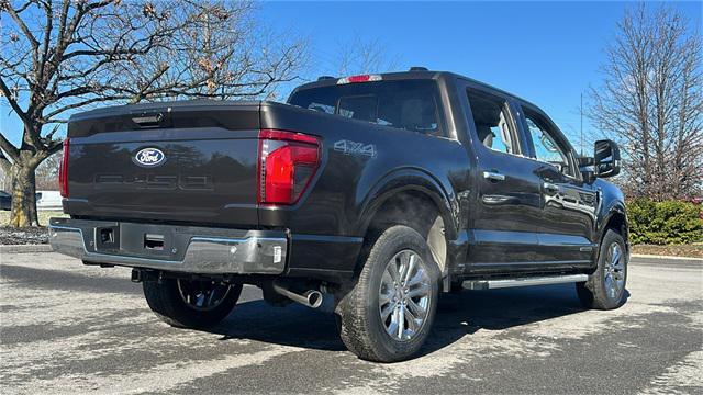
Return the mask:
[(355, 287), (337, 306), (341, 337), (359, 358), (402, 361), (427, 339), (439, 296), (439, 271), (425, 239), (406, 226), (378, 238)]

